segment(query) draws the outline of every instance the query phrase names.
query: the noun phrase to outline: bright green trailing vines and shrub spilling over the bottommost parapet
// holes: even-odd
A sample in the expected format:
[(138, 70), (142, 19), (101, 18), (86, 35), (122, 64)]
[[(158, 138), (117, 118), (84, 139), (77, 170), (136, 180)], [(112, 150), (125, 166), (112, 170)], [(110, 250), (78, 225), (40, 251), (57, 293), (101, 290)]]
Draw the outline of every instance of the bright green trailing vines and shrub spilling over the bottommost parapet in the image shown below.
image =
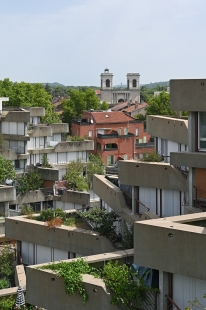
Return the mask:
[(82, 282), (83, 274), (91, 274), (102, 278), (111, 294), (111, 304), (121, 305), (124, 309), (138, 309), (146, 302), (148, 288), (144, 280), (140, 279), (137, 284), (134, 274), (127, 265), (119, 265), (118, 262), (108, 262), (100, 269), (92, 268), (83, 260), (78, 259), (72, 262), (51, 263), (38, 269), (52, 270), (64, 279), (65, 290), (69, 295), (76, 291), (83, 297), (83, 303), (88, 300), (88, 294)]

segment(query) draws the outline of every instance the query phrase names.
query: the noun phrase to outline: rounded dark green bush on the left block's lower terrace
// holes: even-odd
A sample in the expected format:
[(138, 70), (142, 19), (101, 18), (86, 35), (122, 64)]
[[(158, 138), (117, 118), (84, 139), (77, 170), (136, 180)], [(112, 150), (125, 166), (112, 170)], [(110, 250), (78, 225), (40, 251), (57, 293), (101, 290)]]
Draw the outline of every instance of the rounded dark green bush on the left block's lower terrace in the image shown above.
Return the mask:
[(20, 178), (16, 179), (17, 192), (25, 194), (28, 191), (38, 190), (43, 183), (41, 175), (37, 170), (30, 170), (29, 173), (24, 173)]

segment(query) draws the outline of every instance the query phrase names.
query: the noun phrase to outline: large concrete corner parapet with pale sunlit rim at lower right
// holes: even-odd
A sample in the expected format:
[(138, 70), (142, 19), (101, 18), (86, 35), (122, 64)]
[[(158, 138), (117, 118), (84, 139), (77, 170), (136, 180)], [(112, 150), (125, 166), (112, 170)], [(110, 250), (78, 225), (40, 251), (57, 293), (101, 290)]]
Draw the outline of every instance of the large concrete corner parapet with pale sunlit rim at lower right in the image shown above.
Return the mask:
[(136, 222), (134, 263), (206, 280), (205, 222), (205, 213)]

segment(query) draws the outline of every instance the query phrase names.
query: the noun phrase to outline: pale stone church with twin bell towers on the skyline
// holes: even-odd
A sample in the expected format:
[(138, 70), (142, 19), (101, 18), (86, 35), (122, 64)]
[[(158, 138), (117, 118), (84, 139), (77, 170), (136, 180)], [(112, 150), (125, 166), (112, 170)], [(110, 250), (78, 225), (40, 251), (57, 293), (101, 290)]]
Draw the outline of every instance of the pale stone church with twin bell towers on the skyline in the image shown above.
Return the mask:
[(133, 102), (140, 103), (140, 83), (139, 73), (127, 73), (127, 89), (114, 90), (113, 88), (113, 73), (106, 68), (104, 73), (101, 73), (101, 94), (102, 101), (107, 101), (109, 104), (117, 104), (118, 102)]

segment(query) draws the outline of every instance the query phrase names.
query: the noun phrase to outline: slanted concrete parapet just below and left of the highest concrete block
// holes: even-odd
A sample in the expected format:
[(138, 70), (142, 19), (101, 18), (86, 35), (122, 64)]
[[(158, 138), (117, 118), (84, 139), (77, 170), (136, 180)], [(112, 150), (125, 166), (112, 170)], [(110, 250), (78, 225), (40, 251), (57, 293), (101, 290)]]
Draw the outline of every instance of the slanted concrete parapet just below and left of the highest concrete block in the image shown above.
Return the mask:
[(148, 115), (147, 133), (158, 138), (188, 145), (188, 121), (184, 119)]

